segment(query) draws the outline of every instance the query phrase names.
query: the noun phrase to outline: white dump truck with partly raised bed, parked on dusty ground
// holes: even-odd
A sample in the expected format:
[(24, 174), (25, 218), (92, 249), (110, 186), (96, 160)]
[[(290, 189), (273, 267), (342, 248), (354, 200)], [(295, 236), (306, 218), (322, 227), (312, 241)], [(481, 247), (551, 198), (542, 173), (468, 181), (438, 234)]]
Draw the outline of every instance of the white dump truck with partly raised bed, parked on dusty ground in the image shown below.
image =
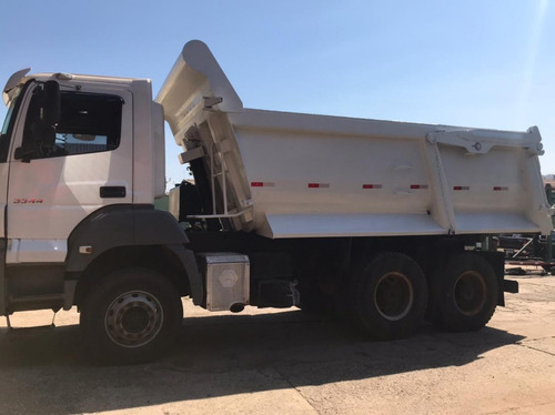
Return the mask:
[[(155, 356), (182, 297), (329, 311), (369, 335), (484, 326), (504, 292), (500, 233), (552, 230), (526, 132), (244, 109), (185, 44), (151, 82), (20, 71), (3, 90), (0, 314), (81, 313), (102, 357)], [(164, 120), (194, 181), (164, 195)]]

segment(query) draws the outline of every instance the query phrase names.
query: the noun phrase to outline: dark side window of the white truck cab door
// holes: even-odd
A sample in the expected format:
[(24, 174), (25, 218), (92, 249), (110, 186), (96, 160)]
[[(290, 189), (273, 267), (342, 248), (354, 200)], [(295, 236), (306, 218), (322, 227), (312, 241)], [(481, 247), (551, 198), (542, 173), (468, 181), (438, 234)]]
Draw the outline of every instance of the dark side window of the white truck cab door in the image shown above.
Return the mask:
[[(33, 138), (40, 118), (40, 98), (31, 100), (23, 142)], [(118, 148), (121, 136), (123, 100), (117, 95), (84, 92), (60, 94), (60, 121), (56, 125), (56, 142), (50, 148), (38, 148), (31, 159), (97, 153)]]

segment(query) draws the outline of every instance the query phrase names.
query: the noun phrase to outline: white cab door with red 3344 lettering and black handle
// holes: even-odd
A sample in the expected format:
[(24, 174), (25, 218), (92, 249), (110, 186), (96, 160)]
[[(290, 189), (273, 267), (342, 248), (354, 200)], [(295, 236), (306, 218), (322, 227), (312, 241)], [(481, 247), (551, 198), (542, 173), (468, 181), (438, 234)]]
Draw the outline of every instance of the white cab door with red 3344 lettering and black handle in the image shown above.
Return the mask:
[[(40, 88), (26, 97), (16, 148), (40, 141)], [(63, 262), (79, 222), (102, 206), (133, 201), (132, 94), (82, 85), (62, 89), (60, 102), (56, 143), (10, 155), (7, 263)]]

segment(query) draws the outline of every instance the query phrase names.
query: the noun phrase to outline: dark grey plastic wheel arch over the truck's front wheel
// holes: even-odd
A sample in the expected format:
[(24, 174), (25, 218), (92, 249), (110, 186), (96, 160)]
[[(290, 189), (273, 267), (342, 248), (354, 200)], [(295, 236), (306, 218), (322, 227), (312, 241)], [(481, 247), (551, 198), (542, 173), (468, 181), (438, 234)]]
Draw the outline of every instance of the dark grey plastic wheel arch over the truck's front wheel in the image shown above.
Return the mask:
[[(67, 280), (79, 305), (99, 277), (109, 272), (143, 266), (167, 275), (180, 294), (195, 304), (204, 289), (189, 239), (168, 212), (152, 205), (110, 205), (85, 217), (68, 240)], [(77, 281), (77, 283), (75, 283)]]

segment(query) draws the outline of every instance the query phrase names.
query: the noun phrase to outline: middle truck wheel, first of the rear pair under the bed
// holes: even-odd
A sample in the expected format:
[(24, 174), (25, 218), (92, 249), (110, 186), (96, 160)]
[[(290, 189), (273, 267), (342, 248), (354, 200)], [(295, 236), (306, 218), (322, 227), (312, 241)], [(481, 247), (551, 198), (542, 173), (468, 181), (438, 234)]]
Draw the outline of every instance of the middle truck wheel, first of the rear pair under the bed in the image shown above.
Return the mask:
[(355, 320), (366, 333), (382, 340), (406, 337), (424, 316), (426, 279), (410, 256), (382, 253), (359, 274), (354, 295)]

